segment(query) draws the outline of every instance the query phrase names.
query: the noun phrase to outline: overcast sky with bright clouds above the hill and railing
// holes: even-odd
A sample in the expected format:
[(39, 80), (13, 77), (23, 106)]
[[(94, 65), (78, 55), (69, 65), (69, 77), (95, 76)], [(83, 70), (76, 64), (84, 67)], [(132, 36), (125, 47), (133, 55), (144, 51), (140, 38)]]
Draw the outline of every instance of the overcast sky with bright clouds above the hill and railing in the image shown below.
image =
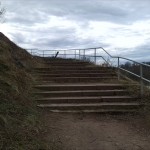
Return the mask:
[(103, 47), (150, 61), (150, 0), (0, 0), (0, 32), (31, 49)]

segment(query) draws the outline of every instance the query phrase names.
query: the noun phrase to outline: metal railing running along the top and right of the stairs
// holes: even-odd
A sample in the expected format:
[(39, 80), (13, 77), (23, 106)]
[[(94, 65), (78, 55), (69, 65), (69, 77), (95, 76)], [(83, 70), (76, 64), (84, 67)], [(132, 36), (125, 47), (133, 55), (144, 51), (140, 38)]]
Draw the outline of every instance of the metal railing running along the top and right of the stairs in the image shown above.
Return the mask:
[[(40, 57), (58, 57), (61, 58), (72, 58), (79, 60), (92, 61), (95, 64), (103, 64), (104, 66), (112, 66), (117, 69), (118, 80), (120, 80), (121, 71), (124, 71), (136, 78), (140, 79), (140, 95), (144, 93), (144, 83), (150, 85), (150, 79), (143, 76), (143, 68), (146, 68), (150, 73), (150, 65), (140, 63), (129, 58), (112, 56), (108, 51), (102, 47), (86, 48), (86, 49), (67, 49), (67, 50), (39, 50), (39, 49), (28, 49), (28, 51), (34, 56)], [(100, 52), (100, 53), (99, 53)], [(139, 67), (139, 72), (135, 73), (126, 68), (122, 68), (121, 65), (126, 61), (133, 63)]]

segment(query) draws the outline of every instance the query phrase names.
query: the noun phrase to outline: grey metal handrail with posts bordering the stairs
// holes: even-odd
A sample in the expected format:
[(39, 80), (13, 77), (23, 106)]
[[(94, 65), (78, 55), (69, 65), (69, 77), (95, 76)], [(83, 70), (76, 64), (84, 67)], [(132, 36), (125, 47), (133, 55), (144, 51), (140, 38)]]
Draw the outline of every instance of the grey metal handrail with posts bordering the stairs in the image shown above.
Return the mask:
[[(125, 58), (125, 57), (120, 57), (120, 56), (112, 56), (108, 51), (106, 51), (103, 47), (95, 47), (95, 48), (84, 48), (84, 49), (61, 49), (61, 50), (47, 50), (47, 49), (45, 49), (45, 50), (40, 50), (40, 49), (28, 49), (30, 52), (31, 52), (31, 54), (32, 55), (34, 55), (35, 54), (35, 52), (38, 52), (38, 53), (40, 53), (40, 52), (42, 52), (42, 54), (39, 54), (40, 56), (42, 55), (43, 57), (48, 57), (48, 56), (50, 56), (50, 55), (52, 55), (52, 56), (55, 56), (55, 54), (56, 54), (56, 52), (58, 52), (59, 51), (59, 56), (64, 56), (65, 58), (67, 57), (67, 56), (74, 56), (74, 58), (75, 59), (82, 59), (82, 57), (83, 58), (86, 58), (86, 57), (94, 57), (94, 62), (95, 62), (95, 64), (97, 63), (97, 58), (102, 58), (104, 61), (105, 61), (105, 63), (107, 63), (109, 66), (112, 66), (112, 64), (110, 64), (110, 62), (108, 61), (108, 60), (106, 60), (102, 55), (97, 55), (97, 50), (102, 50), (103, 52), (105, 52), (111, 59), (117, 59), (117, 66), (114, 66), (114, 67), (116, 67), (117, 68), (117, 73), (118, 73), (118, 80), (120, 80), (120, 76), (121, 76), (121, 73), (120, 73), (120, 71), (122, 70), (122, 71), (125, 71), (125, 72), (127, 72), (127, 73), (130, 73), (130, 74), (132, 74), (132, 75), (134, 75), (134, 76), (136, 76), (136, 77), (138, 77), (138, 78), (140, 78), (140, 93), (141, 93), (141, 96), (143, 95), (143, 92), (144, 92), (144, 83), (143, 83), (143, 81), (146, 81), (146, 82), (148, 82), (148, 83), (150, 83), (150, 80), (149, 79), (146, 79), (146, 78), (144, 78), (143, 77), (143, 66), (146, 66), (146, 67), (149, 67), (150, 68), (150, 65), (148, 65), (148, 64), (144, 64), (144, 63), (140, 63), (140, 62), (137, 62), (137, 61), (135, 61), (135, 60), (132, 60), (132, 59), (129, 59), (129, 58)], [(86, 55), (85, 53), (88, 51), (88, 50), (94, 50), (93, 51), (93, 55), (92, 54), (90, 54), (90, 55)], [(74, 53), (67, 53), (67, 52), (74, 52)], [(77, 51), (78, 51), (78, 53), (77, 53)], [(83, 55), (81, 54), (81, 51), (83, 51)], [(52, 54), (49, 54), (49, 53), (47, 53), (47, 52), (51, 52)], [(61, 52), (63, 52), (63, 54), (61, 53)], [(139, 66), (140, 66), (140, 75), (138, 75), (138, 74), (135, 74), (135, 73), (133, 73), (133, 72), (131, 72), (131, 71), (129, 71), (129, 70), (127, 70), (127, 69), (123, 69), (123, 68), (121, 68), (120, 67), (120, 60), (127, 60), (127, 61), (131, 61), (131, 62), (133, 62), (133, 63), (136, 63), (136, 64), (138, 64)]]

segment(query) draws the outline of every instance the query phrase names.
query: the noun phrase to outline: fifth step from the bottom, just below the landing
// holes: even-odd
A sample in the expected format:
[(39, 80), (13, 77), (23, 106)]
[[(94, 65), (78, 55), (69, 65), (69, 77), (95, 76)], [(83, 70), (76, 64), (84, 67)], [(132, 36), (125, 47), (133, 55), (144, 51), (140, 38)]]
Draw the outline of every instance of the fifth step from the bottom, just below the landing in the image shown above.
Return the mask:
[(106, 84), (106, 83), (87, 83), (87, 84), (45, 84), (45, 85), (36, 85), (36, 89), (45, 90), (45, 91), (75, 91), (75, 90), (114, 90), (114, 89), (124, 89), (125, 87), (122, 84)]

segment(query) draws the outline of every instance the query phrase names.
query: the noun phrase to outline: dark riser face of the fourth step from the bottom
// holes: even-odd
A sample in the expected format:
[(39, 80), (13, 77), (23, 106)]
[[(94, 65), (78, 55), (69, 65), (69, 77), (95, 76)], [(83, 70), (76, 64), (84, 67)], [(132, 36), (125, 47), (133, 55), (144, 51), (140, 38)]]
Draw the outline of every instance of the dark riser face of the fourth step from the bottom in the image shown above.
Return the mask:
[(120, 92), (75, 92), (75, 93), (37, 93), (41, 97), (81, 97), (81, 96), (123, 96), (126, 91)]

